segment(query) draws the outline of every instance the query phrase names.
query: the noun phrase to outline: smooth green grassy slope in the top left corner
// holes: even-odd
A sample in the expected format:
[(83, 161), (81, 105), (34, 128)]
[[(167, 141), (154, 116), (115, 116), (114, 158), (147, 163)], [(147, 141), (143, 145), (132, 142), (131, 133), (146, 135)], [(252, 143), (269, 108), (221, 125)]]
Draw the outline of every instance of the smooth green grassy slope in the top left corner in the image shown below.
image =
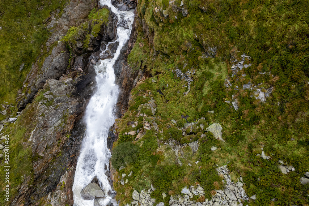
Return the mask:
[[(49, 33), (44, 26), (52, 11), (61, 9), (66, 0), (49, 3), (38, 0), (0, 2), (0, 98), (15, 103), (17, 90), (40, 54)], [(24, 63), (22, 71), (19, 67)]]

